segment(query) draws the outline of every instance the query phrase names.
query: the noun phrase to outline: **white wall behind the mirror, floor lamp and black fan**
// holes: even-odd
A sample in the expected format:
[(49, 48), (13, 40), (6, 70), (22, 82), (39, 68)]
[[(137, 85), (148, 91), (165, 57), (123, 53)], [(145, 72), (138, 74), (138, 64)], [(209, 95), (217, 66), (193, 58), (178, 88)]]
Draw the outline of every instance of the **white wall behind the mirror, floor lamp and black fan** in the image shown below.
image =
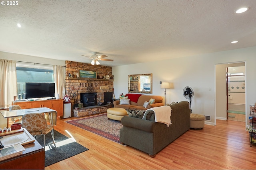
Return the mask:
[[(152, 95), (164, 98), (164, 89), (160, 88), (160, 81), (172, 82), (174, 89), (166, 89), (166, 104), (171, 102), (188, 101), (182, 91), (190, 86), (194, 90), (192, 98), (192, 112), (210, 115), (208, 124), (215, 125), (215, 65), (221, 63), (246, 62), (246, 109), (256, 102), (256, 47), (222, 51), (192, 57), (154, 61), (148, 63), (115, 66), (114, 92), (118, 98), (121, 93), (128, 93), (128, 75), (152, 73)], [(209, 91), (209, 88), (211, 91)], [(248, 108), (249, 109), (249, 108)], [(246, 114), (250, 111), (246, 110)]]

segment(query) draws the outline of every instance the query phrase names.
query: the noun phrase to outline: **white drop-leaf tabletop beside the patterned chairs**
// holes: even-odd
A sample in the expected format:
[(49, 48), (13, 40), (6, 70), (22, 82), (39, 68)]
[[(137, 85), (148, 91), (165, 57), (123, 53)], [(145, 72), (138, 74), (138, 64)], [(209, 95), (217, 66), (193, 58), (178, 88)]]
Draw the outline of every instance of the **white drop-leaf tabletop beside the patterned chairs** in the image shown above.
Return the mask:
[(9, 117), (22, 116), (26, 113), (49, 113), (49, 112), (54, 112), (54, 111), (55, 110), (49, 109), (48, 107), (38, 107), (38, 108), (31, 108), (31, 109), (1, 111), (1, 113), (4, 118), (9, 118)]

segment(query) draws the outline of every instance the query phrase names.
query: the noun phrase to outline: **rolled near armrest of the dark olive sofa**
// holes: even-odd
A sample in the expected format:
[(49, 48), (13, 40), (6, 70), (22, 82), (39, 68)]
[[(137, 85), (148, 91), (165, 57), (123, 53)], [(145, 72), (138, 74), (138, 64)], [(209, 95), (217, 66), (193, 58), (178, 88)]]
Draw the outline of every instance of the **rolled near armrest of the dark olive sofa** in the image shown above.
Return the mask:
[(122, 117), (121, 123), (123, 126), (139, 129), (146, 132), (153, 132), (156, 124), (153, 121), (140, 119), (136, 117), (130, 117), (130, 116)]

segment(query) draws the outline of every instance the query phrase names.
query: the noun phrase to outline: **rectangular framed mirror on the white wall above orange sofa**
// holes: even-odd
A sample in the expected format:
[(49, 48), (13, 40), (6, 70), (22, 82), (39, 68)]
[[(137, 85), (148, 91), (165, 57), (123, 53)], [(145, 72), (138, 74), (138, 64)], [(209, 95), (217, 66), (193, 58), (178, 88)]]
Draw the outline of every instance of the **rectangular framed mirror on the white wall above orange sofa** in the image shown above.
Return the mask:
[(128, 75), (128, 92), (152, 94), (152, 74)]

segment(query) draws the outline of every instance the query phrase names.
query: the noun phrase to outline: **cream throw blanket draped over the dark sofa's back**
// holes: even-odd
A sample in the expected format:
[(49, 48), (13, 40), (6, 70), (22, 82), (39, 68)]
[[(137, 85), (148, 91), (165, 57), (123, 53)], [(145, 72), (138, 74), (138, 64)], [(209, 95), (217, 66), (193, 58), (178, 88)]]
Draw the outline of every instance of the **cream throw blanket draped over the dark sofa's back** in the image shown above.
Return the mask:
[[(151, 109), (147, 109), (147, 111), (148, 110), (154, 111), (155, 122), (164, 123), (167, 125), (167, 127), (169, 127), (169, 125), (172, 124), (172, 122), (171, 122), (172, 108), (170, 106), (153, 107)], [(146, 116), (146, 114), (144, 114), (144, 116)], [(142, 119), (146, 119), (146, 118), (144, 118), (144, 116)]]

